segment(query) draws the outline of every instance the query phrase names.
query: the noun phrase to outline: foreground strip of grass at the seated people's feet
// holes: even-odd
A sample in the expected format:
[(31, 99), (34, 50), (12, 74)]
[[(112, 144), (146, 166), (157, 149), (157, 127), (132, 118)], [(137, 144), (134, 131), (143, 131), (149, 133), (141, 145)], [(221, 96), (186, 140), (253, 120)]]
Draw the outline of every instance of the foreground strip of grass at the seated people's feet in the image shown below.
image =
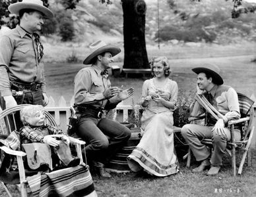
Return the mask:
[(180, 171), (169, 177), (151, 177), (144, 173), (113, 174), (108, 181), (94, 176), (98, 196), (255, 196), (256, 154), (252, 167), (244, 166), (241, 176), (233, 177), (230, 159), (226, 159), (218, 176), (195, 174), (179, 159)]

